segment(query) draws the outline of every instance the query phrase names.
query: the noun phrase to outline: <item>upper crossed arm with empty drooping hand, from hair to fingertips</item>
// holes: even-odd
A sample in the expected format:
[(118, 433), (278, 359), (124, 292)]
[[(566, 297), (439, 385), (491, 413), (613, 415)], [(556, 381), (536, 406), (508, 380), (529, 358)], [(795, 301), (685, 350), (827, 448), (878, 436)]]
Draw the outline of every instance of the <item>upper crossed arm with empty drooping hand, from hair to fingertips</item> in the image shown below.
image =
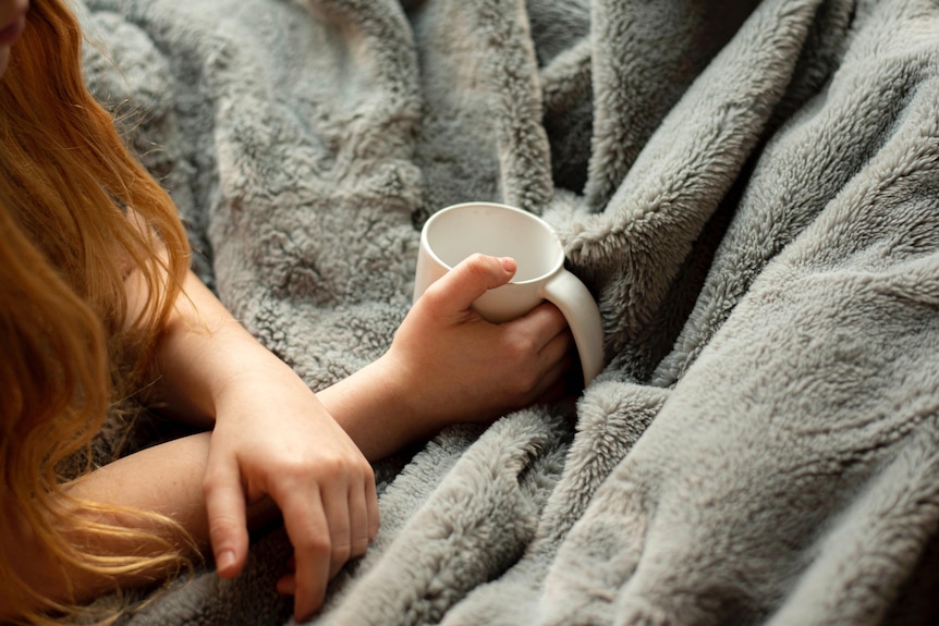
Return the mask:
[(197, 478), (216, 566), (221, 576), (241, 570), (247, 507), (273, 501), (295, 550), (295, 613), (307, 616), (378, 530), (371, 466), (293, 370), (192, 274), (185, 293), (158, 361), (170, 408), (215, 422)]

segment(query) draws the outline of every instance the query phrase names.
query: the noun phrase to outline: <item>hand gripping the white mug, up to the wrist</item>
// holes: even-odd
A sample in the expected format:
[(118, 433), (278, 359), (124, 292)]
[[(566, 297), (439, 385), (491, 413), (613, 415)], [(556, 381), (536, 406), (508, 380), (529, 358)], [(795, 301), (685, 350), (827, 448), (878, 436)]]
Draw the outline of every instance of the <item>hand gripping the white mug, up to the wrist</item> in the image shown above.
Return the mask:
[(573, 339), (554, 305), (501, 324), (471, 308), (515, 270), (513, 259), (474, 255), (431, 284), (399, 328), (382, 357), (386, 376), (425, 428), (488, 421), (563, 395)]

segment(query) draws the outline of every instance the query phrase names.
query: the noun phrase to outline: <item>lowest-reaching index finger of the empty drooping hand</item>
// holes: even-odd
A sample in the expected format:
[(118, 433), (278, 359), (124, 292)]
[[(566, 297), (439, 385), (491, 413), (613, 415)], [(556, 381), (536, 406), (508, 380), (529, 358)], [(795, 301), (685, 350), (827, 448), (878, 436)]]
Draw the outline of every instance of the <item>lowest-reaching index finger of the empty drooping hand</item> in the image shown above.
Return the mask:
[(329, 526), (318, 489), (291, 490), (278, 502), (294, 549), (293, 614), (301, 622), (313, 615), (326, 597), (331, 553)]

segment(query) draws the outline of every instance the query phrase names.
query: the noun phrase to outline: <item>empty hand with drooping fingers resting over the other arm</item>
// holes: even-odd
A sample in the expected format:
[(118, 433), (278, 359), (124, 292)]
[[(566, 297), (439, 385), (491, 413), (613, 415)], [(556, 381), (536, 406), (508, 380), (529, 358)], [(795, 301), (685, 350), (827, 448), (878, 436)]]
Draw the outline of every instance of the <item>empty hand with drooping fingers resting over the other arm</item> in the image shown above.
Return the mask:
[(246, 506), (269, 498), (280, 508), (295, 570), (278, 590), (294, 594), (297, 621), (319, 609), (329, 579), (378, 531), (371, 466), (276, 358), (261, 358), (218, 398), (204, 490), (222, 577), (244, 566)]

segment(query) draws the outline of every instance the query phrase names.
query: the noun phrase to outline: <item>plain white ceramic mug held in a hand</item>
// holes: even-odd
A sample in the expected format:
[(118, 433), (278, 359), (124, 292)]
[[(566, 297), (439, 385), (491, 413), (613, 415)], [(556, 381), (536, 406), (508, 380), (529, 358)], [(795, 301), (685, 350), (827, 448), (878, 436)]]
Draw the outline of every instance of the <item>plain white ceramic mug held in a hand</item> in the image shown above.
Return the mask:
[(466, 202), (434, 213), (420, 233), (414, 302), (466, 257), (481, 253), (512, 257), (517, 271), (508, 284), (489, 290), (473, 308), (493, 323), (525, 315), (544, 300), (557, 306), (574, 335), (584, 385), (603, 367), (603, 330), (587, 287), (564, 269), (564, 249), (548, 222), (505, 205)]

